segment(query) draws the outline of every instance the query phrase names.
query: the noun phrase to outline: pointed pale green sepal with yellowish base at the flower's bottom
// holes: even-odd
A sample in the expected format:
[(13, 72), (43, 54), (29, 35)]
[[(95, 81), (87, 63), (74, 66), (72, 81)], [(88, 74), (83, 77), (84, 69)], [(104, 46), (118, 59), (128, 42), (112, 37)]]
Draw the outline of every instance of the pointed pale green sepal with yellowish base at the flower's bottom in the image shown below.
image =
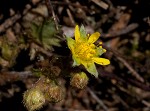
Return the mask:
[(98, 77), (98, 72), (97, 72), (94, 62), (83, 62), (82, 61), (82, 64), (84, 65), (84, 67), (86, 68), (86, 70), (89, 73), (94, 75), (96, 78)]

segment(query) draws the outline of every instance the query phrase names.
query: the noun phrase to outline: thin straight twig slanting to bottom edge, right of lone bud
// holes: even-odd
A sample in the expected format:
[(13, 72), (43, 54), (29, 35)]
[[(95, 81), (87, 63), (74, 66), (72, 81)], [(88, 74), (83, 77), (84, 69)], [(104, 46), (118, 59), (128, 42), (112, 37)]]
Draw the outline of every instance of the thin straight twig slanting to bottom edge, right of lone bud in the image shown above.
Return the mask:
[(102, 100), (100, 100), (97, 95), (88, 87), (87, 91), (91, 94), (91, 96), (99, 103), (99, 105), (105, 110), (108, 111), (107, 106), (103, 103)]

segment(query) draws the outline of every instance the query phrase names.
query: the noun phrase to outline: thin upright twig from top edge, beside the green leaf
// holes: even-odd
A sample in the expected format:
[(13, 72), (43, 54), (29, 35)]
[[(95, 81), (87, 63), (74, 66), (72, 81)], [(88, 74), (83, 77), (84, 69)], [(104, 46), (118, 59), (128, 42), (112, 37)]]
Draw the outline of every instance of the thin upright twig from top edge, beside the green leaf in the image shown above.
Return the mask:
[(47, 8), (48, 8), (49, 16), (51, 15), (50, 12), (52, 12), (52, 16), (53, 16), (53, 19), (54, 19), (54, 22), (55, 22), (56, 30), (59, 30), (59, 28), (58, 28), (58, 21), (57, 21), (57, 18), (56, 18), (56, 15), (55, 15), (55, 12), (54, 12), (51, 0), (45, 0), (45, 1), (46, 1), (46, 5), (47, 5)]

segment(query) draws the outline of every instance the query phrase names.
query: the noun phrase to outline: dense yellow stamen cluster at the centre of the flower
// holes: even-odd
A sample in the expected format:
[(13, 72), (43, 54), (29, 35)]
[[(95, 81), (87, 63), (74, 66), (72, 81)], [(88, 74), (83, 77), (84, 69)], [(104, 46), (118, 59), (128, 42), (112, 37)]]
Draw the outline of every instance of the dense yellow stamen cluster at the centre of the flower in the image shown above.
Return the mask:
[(75, 45), (75, 55), (85, 61), (91, 60), (91, 58), (96, 54), (95, 45), (88, 43), (76, 43)]

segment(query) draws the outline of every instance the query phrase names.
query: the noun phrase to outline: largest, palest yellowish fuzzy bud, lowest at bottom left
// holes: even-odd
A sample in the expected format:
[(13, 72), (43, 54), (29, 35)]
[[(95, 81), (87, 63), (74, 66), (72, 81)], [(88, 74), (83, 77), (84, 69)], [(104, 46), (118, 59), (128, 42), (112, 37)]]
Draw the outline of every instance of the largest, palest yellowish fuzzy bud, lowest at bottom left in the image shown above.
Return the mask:
[(24, 105), (29, 111), (40, 109), (45, 103), (44, 94), (36, 87), (27, 90), (23, 95)]

